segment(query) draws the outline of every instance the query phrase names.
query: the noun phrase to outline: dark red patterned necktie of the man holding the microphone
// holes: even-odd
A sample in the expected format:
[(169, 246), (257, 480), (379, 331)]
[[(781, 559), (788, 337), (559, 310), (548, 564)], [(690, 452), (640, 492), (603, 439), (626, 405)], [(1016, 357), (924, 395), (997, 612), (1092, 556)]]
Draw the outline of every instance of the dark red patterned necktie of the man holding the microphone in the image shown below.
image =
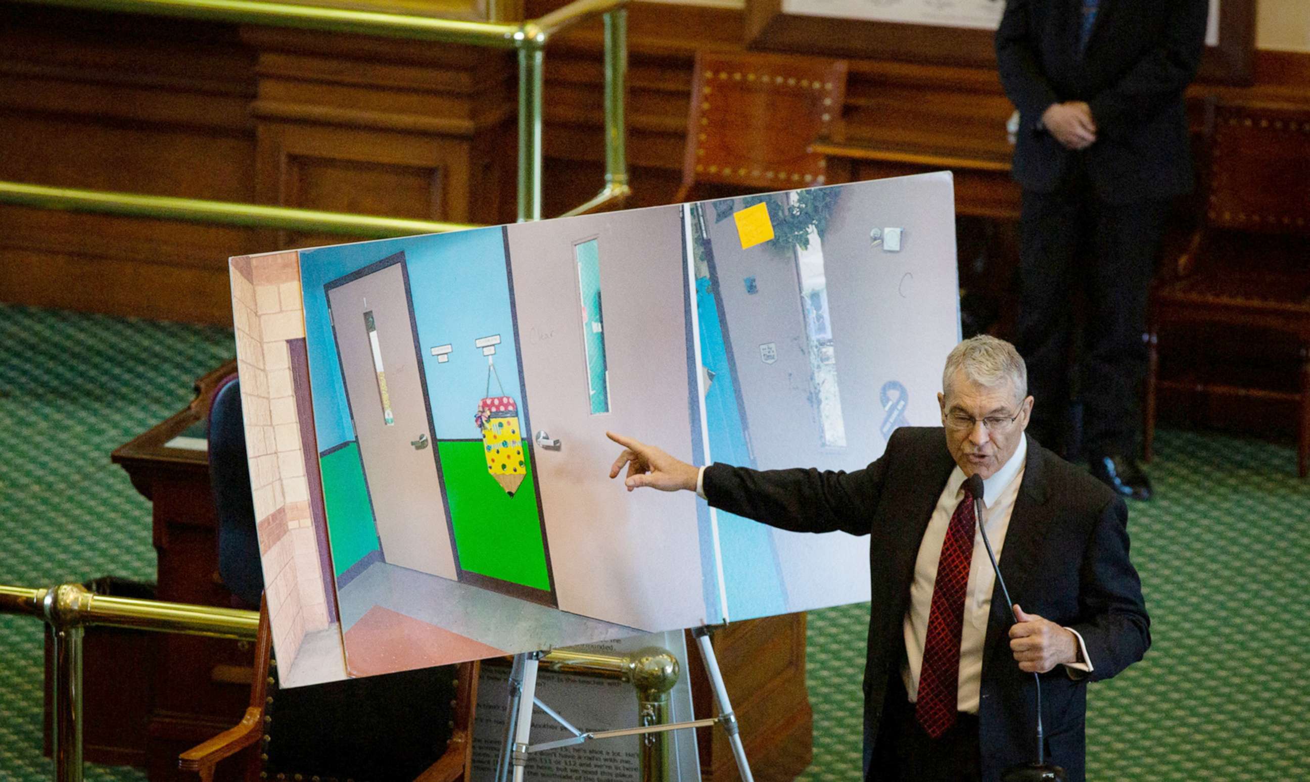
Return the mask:
[(973, 559), (973, 496), (955, 506), (951, 524), (942, 541), (937, 563), (937, 583), (927, 613), (924, 664), (918, 675), (914, 718), (927, 735), (937, 739), (955, 724), (960, 686), (960, 629), (964, 626), (964, 591)]

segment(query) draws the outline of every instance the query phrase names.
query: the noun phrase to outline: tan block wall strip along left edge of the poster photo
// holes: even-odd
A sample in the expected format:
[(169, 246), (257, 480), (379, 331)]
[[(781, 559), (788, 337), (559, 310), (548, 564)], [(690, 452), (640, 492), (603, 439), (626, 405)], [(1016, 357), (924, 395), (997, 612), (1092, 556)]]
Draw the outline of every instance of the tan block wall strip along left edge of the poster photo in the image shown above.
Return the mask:
[(296, 253), (236, 258), (232, 270), (265, 592), (278, 659), (291, 665), (305, 633), (328, 626), (287, 354), (287, 339), (304, 337), (300, 270)]

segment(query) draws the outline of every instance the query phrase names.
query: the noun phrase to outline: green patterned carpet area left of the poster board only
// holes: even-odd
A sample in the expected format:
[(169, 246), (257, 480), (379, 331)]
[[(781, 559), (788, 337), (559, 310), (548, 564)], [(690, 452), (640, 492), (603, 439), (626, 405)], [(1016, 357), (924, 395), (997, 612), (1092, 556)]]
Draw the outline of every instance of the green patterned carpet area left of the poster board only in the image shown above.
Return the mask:
[[(236, 354), (231, 329), (0, 305), (0, 582), (155, 580), (149, 503), (109, 453), (191, 401), (191, 382)], [(0, 614), (3, 782), (51, 778), (42, 629)], [(86, 779), (145, 774), (88, 765)]]

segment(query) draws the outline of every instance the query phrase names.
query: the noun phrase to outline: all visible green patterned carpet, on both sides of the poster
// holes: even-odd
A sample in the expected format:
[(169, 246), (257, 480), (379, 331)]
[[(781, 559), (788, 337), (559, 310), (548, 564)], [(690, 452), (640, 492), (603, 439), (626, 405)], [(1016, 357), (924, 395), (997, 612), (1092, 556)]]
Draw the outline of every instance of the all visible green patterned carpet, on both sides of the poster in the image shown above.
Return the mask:
[[(149, 506), (109, 452), (182, 407), (232, 356), (232, 333), (0, 305), (0, 583), (152, 579)], [(1294, 464), (1282, 445), (1161, 432), (1158, 498), (1134, 503), (1129, 527), (1155, 644), (1091, 686), (1090, 778), (1310, 779), (1310, 483)], [(858, 778), (867, 610), (810, 614), (806, 782)], [(0, 616), (0, 782), (50, 778), (41, 647), (37, 621)], [(86, 778), (145, 775), (89, 765)]]

